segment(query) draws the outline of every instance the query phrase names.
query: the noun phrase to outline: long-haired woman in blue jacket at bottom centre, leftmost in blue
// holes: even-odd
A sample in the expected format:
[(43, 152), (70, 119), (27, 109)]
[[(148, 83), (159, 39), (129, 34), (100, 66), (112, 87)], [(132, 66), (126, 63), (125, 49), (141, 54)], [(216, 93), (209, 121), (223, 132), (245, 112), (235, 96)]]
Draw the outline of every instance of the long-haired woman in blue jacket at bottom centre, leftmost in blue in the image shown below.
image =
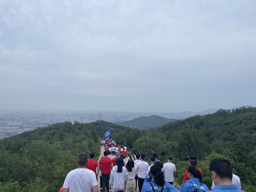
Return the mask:
[(143, 184), (141, 192), (179, 192), (170, 183), (164, 181), (164, 174), (160, 166), (150, 167), (151, 182)]

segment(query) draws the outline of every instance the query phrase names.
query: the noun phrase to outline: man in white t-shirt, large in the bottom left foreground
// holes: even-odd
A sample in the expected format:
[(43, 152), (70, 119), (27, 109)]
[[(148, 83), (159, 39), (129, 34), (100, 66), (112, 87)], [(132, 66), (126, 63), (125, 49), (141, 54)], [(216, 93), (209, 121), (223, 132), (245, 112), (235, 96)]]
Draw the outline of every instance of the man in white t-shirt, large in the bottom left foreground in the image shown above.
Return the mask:
[(78, 168), (70, 171), (63, 184), (63, 192), (98, 192), (96, 175), (92, 170), (86, 168), (88, 156), (86, 153), (78, 155)]

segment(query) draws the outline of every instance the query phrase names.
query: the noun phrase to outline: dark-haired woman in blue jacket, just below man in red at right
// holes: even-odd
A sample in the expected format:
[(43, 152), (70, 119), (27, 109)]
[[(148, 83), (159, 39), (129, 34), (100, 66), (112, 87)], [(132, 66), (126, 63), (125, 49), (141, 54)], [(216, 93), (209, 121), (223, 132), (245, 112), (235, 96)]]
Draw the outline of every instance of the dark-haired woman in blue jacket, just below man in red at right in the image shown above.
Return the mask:
[(202, 175), (196, 166), (190, 166), (188, 168), (188, 178), (183, 185), (180, 187), (180, 192), (204, 192), (209, 191), (206, 184), (202, 183)]

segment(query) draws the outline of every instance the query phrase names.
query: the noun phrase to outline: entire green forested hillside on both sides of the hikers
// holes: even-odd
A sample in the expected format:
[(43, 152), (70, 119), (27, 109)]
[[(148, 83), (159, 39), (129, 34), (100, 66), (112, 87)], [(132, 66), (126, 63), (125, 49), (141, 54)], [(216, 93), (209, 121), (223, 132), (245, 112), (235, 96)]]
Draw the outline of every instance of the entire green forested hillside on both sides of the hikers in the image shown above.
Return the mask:
[(66, 174), (76, 168), (79, 152), (100, 152), (102, 133), (112, 130), (112, 138), (128, 150), (146, 154), (154, 150), (162, 162), (174, 158), (179, 184), (188, 168), (186, 156), (196, 156), (203, 180), (212, 183), (209, 162), (228, 158), (246, 192), (256, 191), (256, 108), (218, 110), (214, 114), (177, 120), (151, 130), (125, 128), (109, 122), (90, 124), (58, 123), (46, 128), (0, 140), (0, 191), (55, 192)]

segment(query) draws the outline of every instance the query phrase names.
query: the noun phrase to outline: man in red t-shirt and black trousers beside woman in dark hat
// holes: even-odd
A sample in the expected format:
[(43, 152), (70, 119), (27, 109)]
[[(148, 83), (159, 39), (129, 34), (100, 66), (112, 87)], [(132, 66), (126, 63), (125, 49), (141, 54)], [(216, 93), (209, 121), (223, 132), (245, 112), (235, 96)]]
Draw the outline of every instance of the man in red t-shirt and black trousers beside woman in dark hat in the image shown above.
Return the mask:
[(99, 167), (102, 174), (102, 192), (109, 192), (109, 179), (112, 170), (112, 160), (108, 158), (108, 152), (104, 151), (104, 158), (99, 161)]

